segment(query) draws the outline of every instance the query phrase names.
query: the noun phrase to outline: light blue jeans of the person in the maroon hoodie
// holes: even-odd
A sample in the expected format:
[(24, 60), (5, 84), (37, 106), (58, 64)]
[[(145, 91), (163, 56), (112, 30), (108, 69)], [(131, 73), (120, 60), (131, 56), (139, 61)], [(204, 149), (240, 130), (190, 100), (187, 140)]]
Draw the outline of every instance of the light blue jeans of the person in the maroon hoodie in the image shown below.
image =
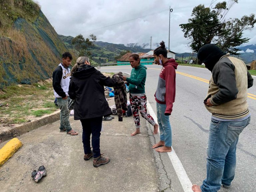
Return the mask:
[(172, 128), (169, 115), (165, 115), (166, 104), (156, 103), (157, 121), (160, 130), (160, 140), (165, 142), (166, 147), (172, 146)]

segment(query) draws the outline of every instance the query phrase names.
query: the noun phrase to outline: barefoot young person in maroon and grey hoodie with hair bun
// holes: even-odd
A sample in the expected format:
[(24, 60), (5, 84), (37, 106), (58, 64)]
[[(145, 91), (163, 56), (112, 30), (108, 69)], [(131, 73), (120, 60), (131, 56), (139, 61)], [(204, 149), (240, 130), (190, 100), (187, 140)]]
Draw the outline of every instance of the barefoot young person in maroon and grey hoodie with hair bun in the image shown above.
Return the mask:
[(160, 43), (160, 47), (154, 50), (154, 58), (156, 64), (162, 65), (163, 68), (159, 75), (155, 93), (160, 141), (152, 148), (156, 148), (155, 150), (158, 152), (170, 152), (172, 151), (172, 128), (169, 115), (172, 113), (175, 100), (175, 69), (177, 69), (178, 63), (175, 59), (167, 58), (167, 50), (163, 41)]

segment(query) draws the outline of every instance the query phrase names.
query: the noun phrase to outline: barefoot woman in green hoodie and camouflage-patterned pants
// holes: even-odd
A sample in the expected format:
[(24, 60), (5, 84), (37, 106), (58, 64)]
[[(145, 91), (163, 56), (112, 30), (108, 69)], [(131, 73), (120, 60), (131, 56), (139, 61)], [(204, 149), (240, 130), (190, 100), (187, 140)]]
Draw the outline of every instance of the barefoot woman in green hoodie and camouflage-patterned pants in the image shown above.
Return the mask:
[(155, 120), (150, 116), (150, 114), (147, 113), (147, 97), (145, 94), (147, 67), (140, 65), (140, 57), (138, 54), (131, 54), (129, 61), (132, 66), (131, 77), (128, 78), (124, 76), (124, 81), (127, 81), (129, 84), (130, 103), (136, 126), (136, 131), (133, 132), (131, 136), (140, 133), (139, 112), (143, 118), (154, 126), (153, 134), (157, 134), (158, 124), (156, 124)]

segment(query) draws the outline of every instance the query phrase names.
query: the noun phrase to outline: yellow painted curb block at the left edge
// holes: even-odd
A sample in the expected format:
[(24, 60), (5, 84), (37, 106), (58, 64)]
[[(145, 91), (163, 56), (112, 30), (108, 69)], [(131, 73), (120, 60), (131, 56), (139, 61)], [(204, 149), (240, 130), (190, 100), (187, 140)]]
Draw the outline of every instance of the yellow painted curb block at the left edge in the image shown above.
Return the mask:
[(0, 149), (0, 166), (4, 164), (20, 147), (22, 143), (19, 139), (13, 138)]

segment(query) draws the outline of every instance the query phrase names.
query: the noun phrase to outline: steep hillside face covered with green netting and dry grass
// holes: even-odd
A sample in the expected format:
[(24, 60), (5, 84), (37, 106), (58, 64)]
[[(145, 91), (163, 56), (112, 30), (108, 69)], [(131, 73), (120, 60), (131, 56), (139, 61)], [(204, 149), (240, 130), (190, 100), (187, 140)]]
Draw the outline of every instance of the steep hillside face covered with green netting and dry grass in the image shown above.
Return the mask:
[(41, 11), (33, 23), (17, 18), (10, 32), (0, 38), (6, 48), (0, 50), (0, 88), (50, 78), (61, 54), (69, 51)]

